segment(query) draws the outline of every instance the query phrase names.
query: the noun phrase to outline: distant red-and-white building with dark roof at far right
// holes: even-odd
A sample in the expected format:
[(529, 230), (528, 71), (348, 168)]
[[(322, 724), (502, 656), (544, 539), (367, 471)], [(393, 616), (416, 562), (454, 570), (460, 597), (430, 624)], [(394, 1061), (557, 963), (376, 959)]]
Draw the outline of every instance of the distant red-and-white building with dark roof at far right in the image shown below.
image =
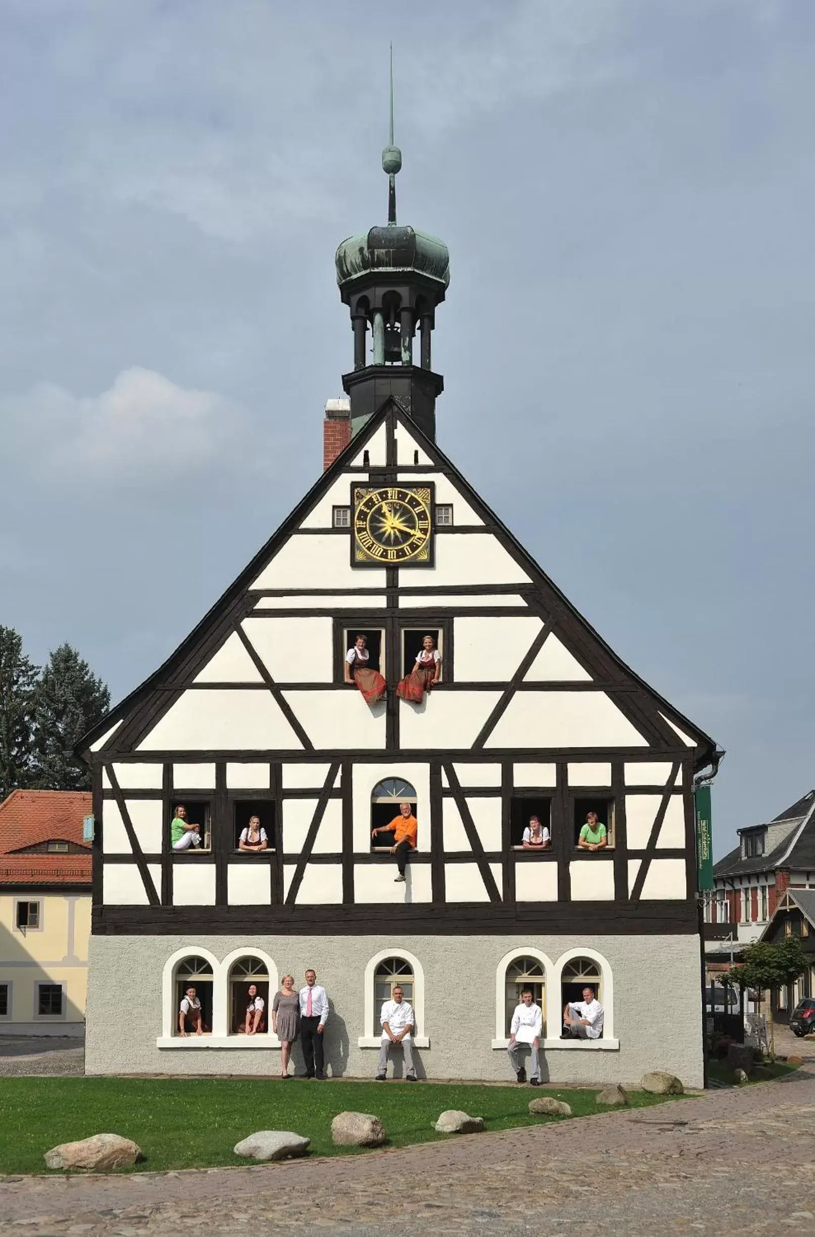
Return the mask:
[(714, 886), (705, 920), (730, 925), (740, 944), (759, 939), (787, 889), (815, 889), (815, 790), (766, 824), (740, 829), (738, 846), (714, 866)]

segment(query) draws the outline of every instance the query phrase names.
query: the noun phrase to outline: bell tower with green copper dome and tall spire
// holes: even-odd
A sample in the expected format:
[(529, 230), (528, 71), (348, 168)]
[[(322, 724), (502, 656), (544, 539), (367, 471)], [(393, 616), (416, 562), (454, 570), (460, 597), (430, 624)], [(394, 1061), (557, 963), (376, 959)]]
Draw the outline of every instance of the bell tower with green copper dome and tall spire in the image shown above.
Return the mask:
[[(450, 255), (435, 236), (396, 220), (396, 176), (402, 151), (393, 145), (393, 51), (391, 127), (382, 151), (388, 178), (385, 226), (349, 236), (336, 250), (336, 282), (351, 314), (354, 369), (343, 375), (351, 401), (351, 435), (393, 396), (424, 433), (435, 439), (435, 400), (444, 379), (432, 366), (435, 308), (450, 282)], [(370, 332), (370, 339), (369, 339)], [(414, 362), (418, 335), (419, 364)]]

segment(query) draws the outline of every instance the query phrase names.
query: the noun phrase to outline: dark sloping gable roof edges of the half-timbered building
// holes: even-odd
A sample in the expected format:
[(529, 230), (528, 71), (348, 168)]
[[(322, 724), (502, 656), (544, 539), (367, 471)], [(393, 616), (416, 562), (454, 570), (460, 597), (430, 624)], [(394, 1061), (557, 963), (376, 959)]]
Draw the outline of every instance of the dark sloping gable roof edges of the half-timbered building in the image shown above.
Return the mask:
[[(652, 729), (665, 736), (665, 742), (669, 742), (669, 740), (675, 742), (675, 738), (679, 738), (683, 746), (690, 745), (688, 746), (689, 751), (695, 747), (698, 768), (709, 764), (716, 752), (716, 742), (695, 726), (688, 717), (680, 714), (663, 696), (654, 691), (652, 687), (641, 679), (639, 675), (637, 675), (631, 667), (628, 667), (613, 652), (599, 632), (595, 631), (595, 628), (587, 622), (586, 618), (582, 617), (582, 615), (579, 614), (560, 589), (558, 589), (558, 586), (549, 579), (524, 547), (513, 537), (498, 516), (496, 516), (495, 512), (476, 494), (466, 479), (459, 473), (453, 461), (439, 449), (437, 443), (422, 432), (398, 401), (392, 397), (385, 401), (375, 416), (370, 418), (364, 429), (351, 439), (349, 445), (334, 460), (331, 466), (326, 469), (325, 473), (323, 473), (323, 475), (314, 482), (302, 501), (283, 521), (277, 532), (266, 542), (265, 546), (261, 547), (247, 567), (240, 573), (237, 579), (204, 615), (202, 621), (178, 646), (176, 652), (172, 653), (167, 661), (150, 675), (150, 678), (147, 678), (120, 704), (115, 705), (93, 730), (83, 736), (80, 742), (77, 745), (77, 753), (83, 758), (88, 758), (90, 750), (94, 747), (104, 748), (106, 746), (111, 746), (115, 748), (124, 732), (120, 734), (117, 740), (114, 740), (113, 730), (119, 729), (120, 722), (125, 719), (132, 717), (135, 710), (148, 701), (151, 693), (158, 684), (166, 684), (173, 678), (183, 677), (183, 673), (189, 669), (190, 664), (193, 664), (200, 643), (205, 636), (211, 632), (213, 627), (221, 626), (224, 627), (224, 631), (228, 631), (229, 623), (235, 617), (244, 617), (244, 611), (241, 609), (244, 596), (252, 583), (257, 579), (262, 568), (273, 558), (292, 533), (298, 529), (303, 518), (330, 490), (343, 473), (361, 454), (362, 449), (367, 443), (370, 443), (377, 430), (386, 423), (390, 423), (391, 427), (395, 427), (398, 423), (403, 424), (408, 433), (417, 440), (422, 450), (427, 454), (429, 459), (429, 464), (427, 465), (428, 470), (437, 469), (444, 471), (454, 485), (461, 491), (464, 499), (481, 516), (481, 518), (493, 526), (495, 534), (501, 539), (505, 549), (507, 549), (521, 568), (528, 573), (533, 584), (545, 589), (547, 594), (552, 599), (552, 609), (558, 611), (559, 615), (568, 617), (573, 623), (579, 625), (582, 635), (587, 635), (590, 640), (599, 648), (601, 648), (608, 658), (612, 659), (617, 670), (636, 683), (638, 688), (647, 694), (653, 706), (653, 717), (651, 719)], [(377, 473), (382, 471), (382, 469), (371, 466), (371, 471)], [(417, 580), (417, 584), (419, 583), (420, 581)], [(169, 703), (169, 693), (164, 693), (166, 703)], [(681, 731), (686, 732), (685, 736), (683, 736)], [(688, 738), (688, 745), (684, 742), (685, 738)]]

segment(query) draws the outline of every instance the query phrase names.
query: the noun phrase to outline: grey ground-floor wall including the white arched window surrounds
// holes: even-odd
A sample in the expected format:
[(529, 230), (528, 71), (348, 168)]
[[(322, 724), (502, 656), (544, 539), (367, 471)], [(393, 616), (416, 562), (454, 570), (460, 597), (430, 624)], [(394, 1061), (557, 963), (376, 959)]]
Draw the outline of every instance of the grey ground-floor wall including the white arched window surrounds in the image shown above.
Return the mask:
[[(686, 1086), (702, 1085), (695, 935), (92, 936), (85, 1071), (279, 1074), (273, 1037), (257, 1037), (247, 1047), (246, 1037), (229, 1034), (230, 967), (252, 954), (268, 962), (270, 993), (286, 972), (299, 985), (307, 967), (317, 970), (330, 999), (324, 1043), (333, 1075), (376, 1072), (375, 966), (383, 957), (401, 957), (414, 976), (419, 1076), (511, 1081), (503, 1028), (506, 967), (513, 957), (532, 956), (545, 975), (544, 1080), (636, 1084), (647, 1070), (669, 1070)], [(213, 1033), (182, 1039), (174, 1034), (174, 974), (179, 960), (192, 955), (213, 967)], [(605, 1035), (600, 1042), (560, 1040), (563, 970), (569, 959), (584, 955), (597, 959), (601, 967)], [(401, 1054), (395, 1056), (398, 1074)], [(293, 1061), (299, 1072), (299, 1047)]]

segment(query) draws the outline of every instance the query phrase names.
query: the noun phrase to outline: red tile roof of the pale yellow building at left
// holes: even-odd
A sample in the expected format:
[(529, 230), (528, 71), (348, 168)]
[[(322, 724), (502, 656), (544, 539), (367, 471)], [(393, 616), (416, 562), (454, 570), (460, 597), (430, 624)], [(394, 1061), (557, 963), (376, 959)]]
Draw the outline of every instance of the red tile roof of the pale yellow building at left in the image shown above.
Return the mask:
[[(82, 821), (89, 790), (12, 790), (0, 804), (0, 884), (90, 884), (90, 846)], [(26, 846), (68, 841), (87, 855), (15, 855)]]

